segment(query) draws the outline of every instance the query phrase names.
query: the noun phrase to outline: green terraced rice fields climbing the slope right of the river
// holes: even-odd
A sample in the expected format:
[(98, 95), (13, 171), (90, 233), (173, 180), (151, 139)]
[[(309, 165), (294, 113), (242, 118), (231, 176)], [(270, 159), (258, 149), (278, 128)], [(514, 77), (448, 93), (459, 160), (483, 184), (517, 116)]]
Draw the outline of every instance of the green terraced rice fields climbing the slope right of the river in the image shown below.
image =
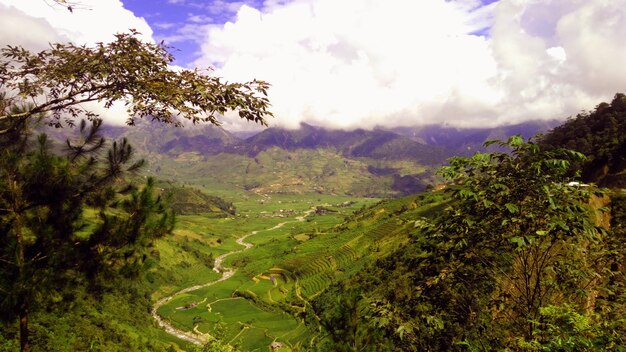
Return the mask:
[[(211, 248), (213, 255), (239, 251), (221, 264), (233, 268), (233, 273), (226, 280), (175, 296), (159, 307), (159, 316), (178, 329), (210, 335), (245, 351), (267, 351), (275, 341), (307, 350), (318, 334), (304, 324), (305, 316), (315, 314), (309, 300), (378, 253), (402, 245), (414, 227), (415, 214), (433, 206), (420, 208), (404, 199), (384, 201), (372, 209), (362, 208), (368, 202), (347, 208), (326, 204), (330, 211), (319, 211), (308, 203), (287, 212), (290, 217), (274, 213), (273, 217), (219, 220), (210, 231), (202, 226), (190, 229), (199, 220), (187, 219), (186, 230), (209, 232), (220, 239), (220, 246)], [(411, 216), (390, 216), (406, 211), (407, 204), (415, 208)], [(303, 215), (298, 222), (296, 218)], [(280, 223), (284, 224), (276, 226)], [(235, 243), (241, 236), (251, 245), (245, 251)]]

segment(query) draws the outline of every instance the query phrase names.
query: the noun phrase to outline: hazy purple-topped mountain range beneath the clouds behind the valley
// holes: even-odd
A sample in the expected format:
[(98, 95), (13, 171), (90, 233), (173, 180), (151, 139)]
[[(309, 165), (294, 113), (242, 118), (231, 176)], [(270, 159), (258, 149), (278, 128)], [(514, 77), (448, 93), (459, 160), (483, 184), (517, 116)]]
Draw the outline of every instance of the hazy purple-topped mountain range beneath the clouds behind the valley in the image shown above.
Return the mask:
[[(484, 150), (489, 139), (529, 137), (555, 124), (348, 131), (303, 123), (297, 130), (270, 127), (243, 139), (214, 125), (175, 128), (140, 120), (132, 127), (106, 127), (104, 134), (126, 137), (147, 159), (151, 174), (191, 184), (203, 179), (211, 190), (397, 197), (438, 183), (436, 170), (451, 156)], [(213, 177), (207, 181), (206, 175)]]

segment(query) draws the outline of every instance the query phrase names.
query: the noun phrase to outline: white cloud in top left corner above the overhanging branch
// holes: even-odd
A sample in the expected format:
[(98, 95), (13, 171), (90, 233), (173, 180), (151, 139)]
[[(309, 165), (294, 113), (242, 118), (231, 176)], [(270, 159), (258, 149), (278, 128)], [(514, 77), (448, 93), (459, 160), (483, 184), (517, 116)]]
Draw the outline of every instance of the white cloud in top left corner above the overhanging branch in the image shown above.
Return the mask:
[[(152, 41), (152, 29), (143, 18), (126, 10), (119, 0), (80, 0), (73, 12), (45, 0), (0, 0), (0, 43), (21, 45), (39, 51), (52, 42), (95, 44), (110, 42), (114, 34), (130, 28)], [(124, 123), (128, 114), (121, 106), (104, 109), (90, 107), (113, 123)]]

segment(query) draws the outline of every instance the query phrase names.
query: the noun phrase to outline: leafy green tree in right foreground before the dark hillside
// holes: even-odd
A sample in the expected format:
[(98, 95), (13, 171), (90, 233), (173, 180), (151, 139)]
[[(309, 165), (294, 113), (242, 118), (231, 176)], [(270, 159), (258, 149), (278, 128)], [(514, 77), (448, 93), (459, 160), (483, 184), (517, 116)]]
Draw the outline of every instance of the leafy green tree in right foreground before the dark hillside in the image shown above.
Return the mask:
[(584, 159), (580, 153), (542, 151), (519, 136), (498, 144), (511, 153), (453, 158), (443, 169), (457, 202), (429, 234), (449, 258), (432, 280), (459, 294), (459, 322), (483, 324), (488, 310), (503, 330), (532, 339), (541, 307), (584, 308), (594, 295), (603, 229), (586, 204), (601, 193), (569, 185), (570, 160)]

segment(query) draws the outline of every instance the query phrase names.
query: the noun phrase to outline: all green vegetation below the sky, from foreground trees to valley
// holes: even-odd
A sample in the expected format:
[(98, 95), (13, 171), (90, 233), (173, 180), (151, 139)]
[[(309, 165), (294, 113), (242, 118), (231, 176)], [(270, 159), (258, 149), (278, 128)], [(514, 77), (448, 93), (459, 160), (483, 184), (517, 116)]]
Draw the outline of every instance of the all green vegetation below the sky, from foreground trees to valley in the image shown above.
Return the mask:
[[(622, 94), (539, 142), (452, 158), (445, 189), (399, 199), (364, 197), (436, 180), (406, 158), (426, 149), (384, 131), (306, 148), (348, 136), (311, 126), (246, 153), (193, 151), (219, 131), (169, 155), (143, 145), (148, 172), (171, 180), (136, 186), (125, 175), (143, 163), (126, 139), (103, 153), (80, 103), (264, 124), (267, 84), (169, 71), (133, 35), (2, 53), (2, 350), (626, 350), (626, 195), (577, 182), (622, 185)], [(92, 124), (64, 151), (33, 138), (79, 113)]]

